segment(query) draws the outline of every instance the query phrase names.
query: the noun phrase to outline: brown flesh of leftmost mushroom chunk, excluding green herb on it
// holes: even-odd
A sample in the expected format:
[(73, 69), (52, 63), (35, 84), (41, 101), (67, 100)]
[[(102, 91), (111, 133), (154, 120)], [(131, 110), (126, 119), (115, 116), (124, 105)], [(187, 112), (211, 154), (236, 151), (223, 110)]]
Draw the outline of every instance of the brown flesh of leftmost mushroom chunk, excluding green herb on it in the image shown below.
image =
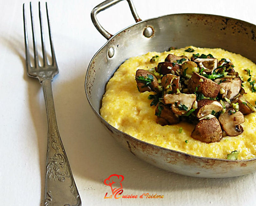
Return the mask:
[[(148, 75), (152, 75), (153, 76), (153, 81), (151, 82), (150, 86), (145, 87), (145, 83), (141, 82), (140, 80), (137, 79), (137, 77), (145, 77), (147, 78)], [(136, 75), (135, 75), (135, 80), (137, 82), (137, 87), (139, 89), (140, 92), (145, 92), (145, 91), (158, 91), (158, 81), (157, 78), (154, 74), (152, 74), (151, 72), (144, 70), (144, 69), (138, 69), (136, 71)]]

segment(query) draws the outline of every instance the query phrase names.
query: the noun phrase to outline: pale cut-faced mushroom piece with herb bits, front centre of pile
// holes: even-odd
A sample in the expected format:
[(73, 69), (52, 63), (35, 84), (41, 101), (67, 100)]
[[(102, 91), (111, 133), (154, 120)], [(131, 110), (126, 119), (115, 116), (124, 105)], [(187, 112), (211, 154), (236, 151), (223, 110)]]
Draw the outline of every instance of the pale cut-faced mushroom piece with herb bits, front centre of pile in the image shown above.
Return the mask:
[(196, 101), (195, 94), (165, 94), (165, 104), (172, 104), (172, 111), (175, 114), (182, 115), (187, 113)]

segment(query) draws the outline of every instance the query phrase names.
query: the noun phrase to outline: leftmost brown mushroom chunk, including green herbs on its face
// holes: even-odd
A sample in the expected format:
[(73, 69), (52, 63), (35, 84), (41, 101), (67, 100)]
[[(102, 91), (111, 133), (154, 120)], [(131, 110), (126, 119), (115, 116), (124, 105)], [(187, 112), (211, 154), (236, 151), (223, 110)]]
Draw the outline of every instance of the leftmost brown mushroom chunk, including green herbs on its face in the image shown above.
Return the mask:
[(158, 91), (159, 84), (156, 76), (147, 70), (138, 69), (136, 71), (135, 80), (139, 92)]

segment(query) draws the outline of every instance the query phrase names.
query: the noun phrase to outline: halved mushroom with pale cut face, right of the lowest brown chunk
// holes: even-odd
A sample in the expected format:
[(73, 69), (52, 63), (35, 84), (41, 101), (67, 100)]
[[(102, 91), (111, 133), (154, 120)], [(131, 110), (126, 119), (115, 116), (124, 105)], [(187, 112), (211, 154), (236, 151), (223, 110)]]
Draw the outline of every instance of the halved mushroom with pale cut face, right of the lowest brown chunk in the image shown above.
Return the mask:
[(227, 109), (225, 113), (219, 115), (219, 123), (229, 136), (241, 134), (244, 130), (240, 124), (244, 122), (244, 115), (239, 111), (236, 112), (234, 109)]

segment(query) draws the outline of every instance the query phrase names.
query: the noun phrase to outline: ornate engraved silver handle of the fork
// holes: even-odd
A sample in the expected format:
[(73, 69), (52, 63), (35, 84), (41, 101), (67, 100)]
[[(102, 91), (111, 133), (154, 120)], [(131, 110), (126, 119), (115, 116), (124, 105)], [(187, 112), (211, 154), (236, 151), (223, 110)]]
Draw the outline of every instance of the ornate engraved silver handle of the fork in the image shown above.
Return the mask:
[(44, 204), (79, 206), (81, 199), (57, 128), (51, 82), (51, 79), (41, 81), (48, 119)]

